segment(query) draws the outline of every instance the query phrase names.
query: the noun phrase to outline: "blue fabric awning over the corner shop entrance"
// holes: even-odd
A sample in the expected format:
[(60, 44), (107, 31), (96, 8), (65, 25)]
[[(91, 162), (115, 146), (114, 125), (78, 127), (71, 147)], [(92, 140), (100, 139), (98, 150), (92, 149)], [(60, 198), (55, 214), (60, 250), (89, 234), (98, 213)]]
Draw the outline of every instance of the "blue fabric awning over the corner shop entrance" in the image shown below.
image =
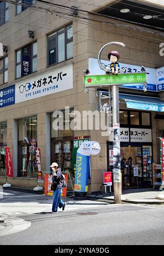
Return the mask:
[(119, 94), (119, 98), (125, 100), (126, 106), (130, 109), (164, 112), (164, 101), (159, 98), (130, 94)]

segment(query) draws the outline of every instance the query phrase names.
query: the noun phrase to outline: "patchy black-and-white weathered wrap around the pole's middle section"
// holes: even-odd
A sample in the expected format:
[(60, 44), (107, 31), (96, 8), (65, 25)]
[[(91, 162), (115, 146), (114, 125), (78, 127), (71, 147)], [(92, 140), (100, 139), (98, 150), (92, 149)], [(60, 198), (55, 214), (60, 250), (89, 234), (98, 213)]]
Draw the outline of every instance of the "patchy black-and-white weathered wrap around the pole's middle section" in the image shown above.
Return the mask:
[(113, 124), (114, 140), (113, 140), (113, 177), (114, 182), (121, 183), (121, 170), (120, 170), (120, 124)]

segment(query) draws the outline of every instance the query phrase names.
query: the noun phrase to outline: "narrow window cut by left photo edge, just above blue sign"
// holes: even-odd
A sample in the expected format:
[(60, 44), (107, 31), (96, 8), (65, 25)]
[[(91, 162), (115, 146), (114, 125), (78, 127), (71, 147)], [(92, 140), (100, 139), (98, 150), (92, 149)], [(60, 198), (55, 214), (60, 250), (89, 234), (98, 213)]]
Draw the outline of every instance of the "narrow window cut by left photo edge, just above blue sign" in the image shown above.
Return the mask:
[(0, 59), (0, 85), (8, 82), (8, 57)]

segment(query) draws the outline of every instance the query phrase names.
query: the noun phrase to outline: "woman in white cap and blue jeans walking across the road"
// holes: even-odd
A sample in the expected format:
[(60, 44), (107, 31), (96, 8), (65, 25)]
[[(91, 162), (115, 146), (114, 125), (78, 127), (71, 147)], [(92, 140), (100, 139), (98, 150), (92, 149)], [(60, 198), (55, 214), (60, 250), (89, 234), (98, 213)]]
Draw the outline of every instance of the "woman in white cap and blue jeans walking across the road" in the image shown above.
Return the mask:
[(52, 169), (52, 189), (54, 190), (53, 194), (53, 203), (52, 203), (52, 212), (51, 213), (57, 213), (57, 208), (62, 208), (64, 211), (66, 207), (66, 203), (64, 203), (60, 196), (61, 196), (61, 189), (62, 189), (62, 184), (61, 184), (61, 170), (58, 169), (58, 164), (57, 163), (52, 163), (51, 164), (51, 169)]

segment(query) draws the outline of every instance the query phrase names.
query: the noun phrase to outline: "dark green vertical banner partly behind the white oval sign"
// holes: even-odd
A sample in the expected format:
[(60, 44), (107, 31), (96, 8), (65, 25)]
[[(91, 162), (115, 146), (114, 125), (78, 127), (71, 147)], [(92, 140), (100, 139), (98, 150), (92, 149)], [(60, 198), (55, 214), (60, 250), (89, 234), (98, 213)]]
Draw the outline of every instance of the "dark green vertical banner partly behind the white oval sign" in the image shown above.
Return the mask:
[(79, 149), (79, 146), (84, 141), (89, 141), (89, 138), (85, 139), (74, 139), (73, 145), (72, 145), (72, 170), (73, 170), (73, 177), (75, 177), (75, 170), (76, 170), (76, 162), (77, 162), (77, 151)]

